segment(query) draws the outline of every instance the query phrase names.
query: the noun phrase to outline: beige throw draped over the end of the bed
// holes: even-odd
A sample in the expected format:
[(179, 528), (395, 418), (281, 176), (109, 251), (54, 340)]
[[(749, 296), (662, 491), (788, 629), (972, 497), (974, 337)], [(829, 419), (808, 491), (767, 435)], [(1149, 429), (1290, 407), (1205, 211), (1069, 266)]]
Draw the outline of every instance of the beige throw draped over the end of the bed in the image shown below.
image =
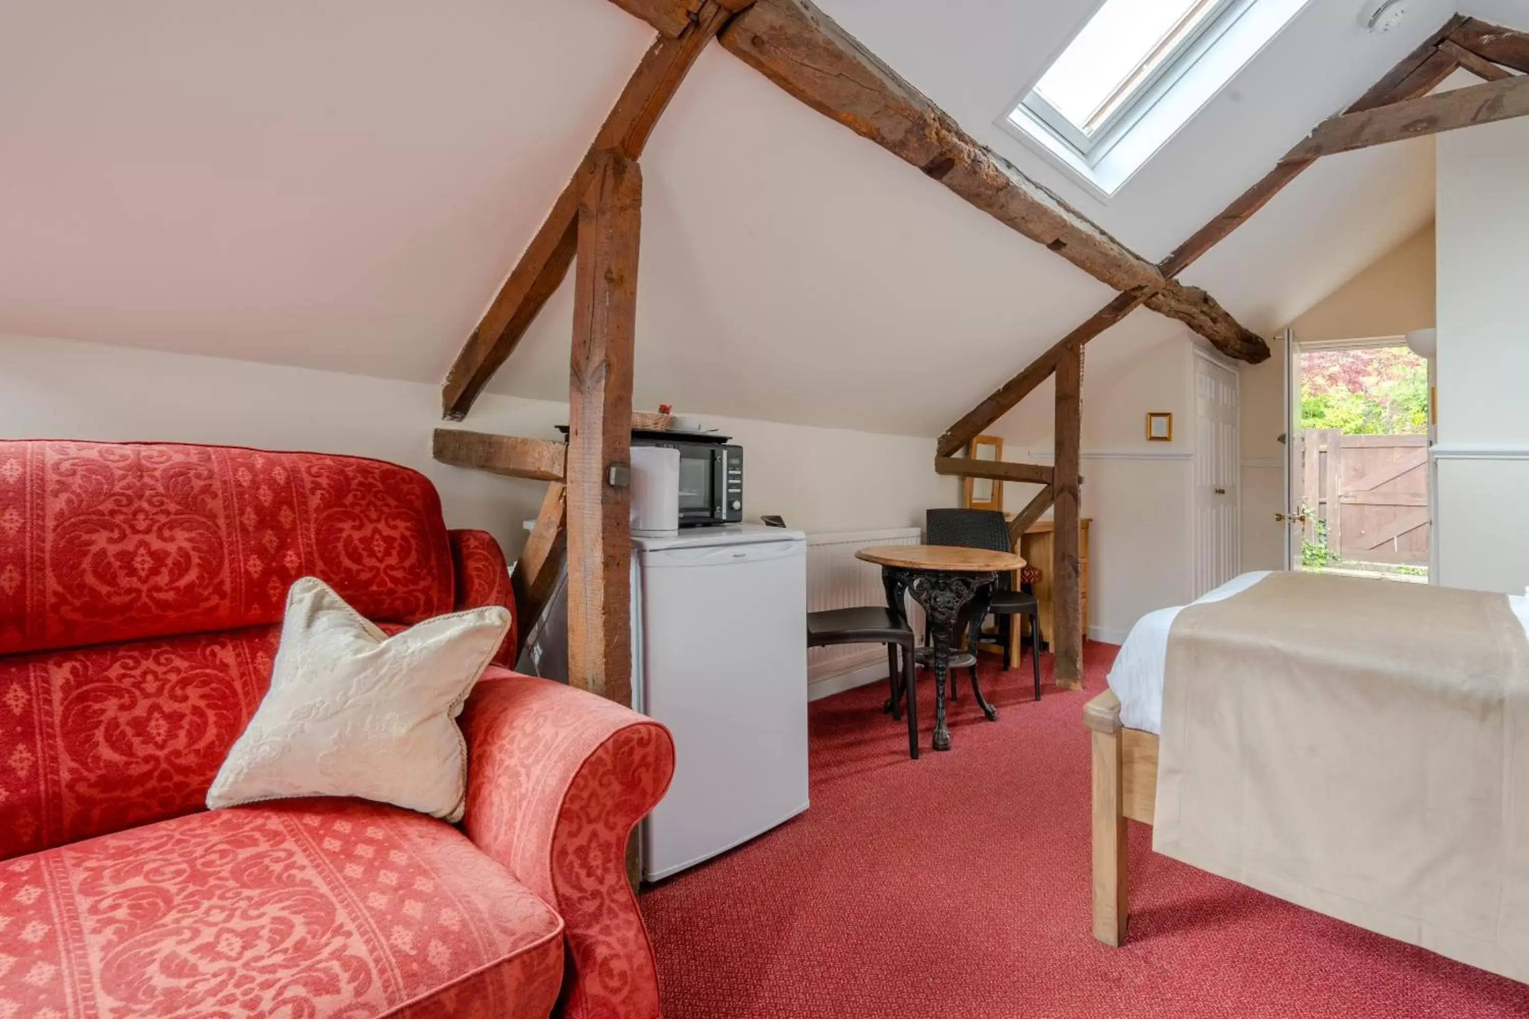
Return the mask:
[(1153, 848), (1529, 982), (1529, 642), (1508, 599), (1275, 573), (1185, 608)]

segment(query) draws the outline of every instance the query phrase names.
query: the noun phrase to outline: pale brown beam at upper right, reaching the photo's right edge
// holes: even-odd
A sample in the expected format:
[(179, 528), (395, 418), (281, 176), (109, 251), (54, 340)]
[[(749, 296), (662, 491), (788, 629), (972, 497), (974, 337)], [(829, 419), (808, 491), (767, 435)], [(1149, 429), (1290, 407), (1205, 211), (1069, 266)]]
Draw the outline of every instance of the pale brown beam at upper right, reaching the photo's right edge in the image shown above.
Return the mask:
[(1529, 115), (1529, 75), (1515, 75), (1335, 116), (1318, 125), (1292, 154), (1315, 159), (1524, 115)]

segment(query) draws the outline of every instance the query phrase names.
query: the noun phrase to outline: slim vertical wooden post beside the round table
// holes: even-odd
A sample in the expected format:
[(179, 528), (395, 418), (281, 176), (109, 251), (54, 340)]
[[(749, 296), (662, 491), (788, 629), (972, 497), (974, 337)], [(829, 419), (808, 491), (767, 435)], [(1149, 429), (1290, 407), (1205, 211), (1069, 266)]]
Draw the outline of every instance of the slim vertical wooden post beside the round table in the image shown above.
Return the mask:
[(1057, 463), (1052, 519), (1057, 535), (1052, 570), (1052, 629), (1057, 686), (1083, 687), (1083, 574), (1079, 548), (1081, 490), (1078, 471), (1083, 454), (1083, 350), (1067, 347), (1057, 361)]

